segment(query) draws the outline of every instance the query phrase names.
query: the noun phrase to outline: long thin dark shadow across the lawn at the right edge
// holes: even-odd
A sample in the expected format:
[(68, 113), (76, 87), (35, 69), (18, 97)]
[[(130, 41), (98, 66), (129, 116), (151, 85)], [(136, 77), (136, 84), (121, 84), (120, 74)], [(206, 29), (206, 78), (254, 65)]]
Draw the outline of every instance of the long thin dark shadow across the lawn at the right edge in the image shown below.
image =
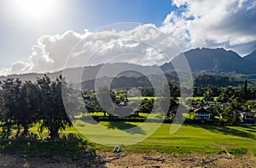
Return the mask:
[(221, 133), (223, 135), (238, 136), (238, 137), (250, 138), (250, 139), (256, 140), (256, 136), (248, 132), (248, 130), (236, 130), (228, 126), (222, 126), (222, 125), (190, 125), (190, 126), (203, 128), (206, 130), (210, 130), (214, 133)]

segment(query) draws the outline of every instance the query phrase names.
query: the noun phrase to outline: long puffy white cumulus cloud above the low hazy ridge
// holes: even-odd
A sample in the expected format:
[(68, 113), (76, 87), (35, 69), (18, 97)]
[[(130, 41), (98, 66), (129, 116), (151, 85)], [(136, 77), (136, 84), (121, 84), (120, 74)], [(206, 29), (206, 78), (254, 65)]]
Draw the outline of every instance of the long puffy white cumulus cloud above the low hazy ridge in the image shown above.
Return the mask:
[[(65, 67), (117, 61), (159, 65), (170, 61), (169, 58), (179, 52), (172, 38), (152, 24), (138, 25), (129, 30), (113, 26), (113, 29), (97, 32), (86, 30), (83, 34), (67, 31), (62, 35), (39, 38), (28, 61), (16, 61), (9, 72), (53, 72)], [(132, 58), (127, 55), (129, 53)]]

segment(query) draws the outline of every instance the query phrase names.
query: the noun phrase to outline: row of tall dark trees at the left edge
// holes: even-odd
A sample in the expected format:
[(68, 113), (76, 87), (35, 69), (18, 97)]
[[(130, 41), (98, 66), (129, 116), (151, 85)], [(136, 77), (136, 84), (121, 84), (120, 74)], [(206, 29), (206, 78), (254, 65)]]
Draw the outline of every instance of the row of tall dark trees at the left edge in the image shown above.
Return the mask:
[(72, 126), (61, 98), (61, 85), (67, 86), (59, 76), (51, 80), (44, 75), (35, 83), (9, 78), (0, 83), (0, 130), (2, 138), (29, 136), (29, 129), (38, 125), (39, 135), (44, 130), (49, 138), (59, 137), (59, 131)]

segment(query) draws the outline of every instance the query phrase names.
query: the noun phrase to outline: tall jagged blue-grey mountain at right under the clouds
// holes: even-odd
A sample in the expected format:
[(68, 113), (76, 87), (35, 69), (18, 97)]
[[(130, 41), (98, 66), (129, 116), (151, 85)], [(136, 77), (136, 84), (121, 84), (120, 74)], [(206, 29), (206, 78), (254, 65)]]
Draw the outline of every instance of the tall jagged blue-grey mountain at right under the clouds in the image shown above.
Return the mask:
[[(183, 53), (189, 63), (192, 72), (236, 72), (241, 74), (256, 73), (253, 67), (256, 63), (256, 56), (248, 55), (242, 58), (236, 52), (225, 49), (190, 49)], [(255, 55), (255, 54), (254, 54)], [(172, 60), (173, 64), (180, 62), (181, 55)], [(170, 64), (170, 63), (169, 63)], [(163, 65), (166, 70), (166, 65)]]

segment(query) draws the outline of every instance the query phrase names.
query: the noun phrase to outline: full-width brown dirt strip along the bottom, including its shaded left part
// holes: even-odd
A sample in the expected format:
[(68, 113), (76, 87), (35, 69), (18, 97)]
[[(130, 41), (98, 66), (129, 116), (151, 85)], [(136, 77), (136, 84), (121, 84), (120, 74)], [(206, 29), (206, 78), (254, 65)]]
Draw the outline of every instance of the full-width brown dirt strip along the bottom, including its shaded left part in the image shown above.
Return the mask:
[(53, 157), (27, 157), (0, 154), (0, 167), (256, 167), (252, 154), (233, 157), (230, 154), (136, 154), (103, 153), (84, 159)]

